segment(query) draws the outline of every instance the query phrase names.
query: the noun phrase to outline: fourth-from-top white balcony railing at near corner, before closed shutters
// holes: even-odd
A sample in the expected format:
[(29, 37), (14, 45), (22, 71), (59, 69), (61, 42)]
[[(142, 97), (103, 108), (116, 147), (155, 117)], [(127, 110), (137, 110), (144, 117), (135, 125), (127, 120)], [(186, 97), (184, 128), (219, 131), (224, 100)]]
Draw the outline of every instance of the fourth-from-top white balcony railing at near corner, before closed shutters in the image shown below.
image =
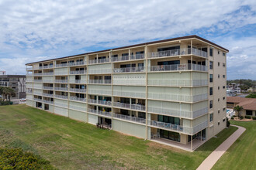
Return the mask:
[(180, 94), (170, 94), (170, 93), (148, 93), (148, 98), (157, 100), (171, 100), (178, 102), (197, 102), (200, 100), (207, 100), (208, 93), (199, 95), (180, 95)]

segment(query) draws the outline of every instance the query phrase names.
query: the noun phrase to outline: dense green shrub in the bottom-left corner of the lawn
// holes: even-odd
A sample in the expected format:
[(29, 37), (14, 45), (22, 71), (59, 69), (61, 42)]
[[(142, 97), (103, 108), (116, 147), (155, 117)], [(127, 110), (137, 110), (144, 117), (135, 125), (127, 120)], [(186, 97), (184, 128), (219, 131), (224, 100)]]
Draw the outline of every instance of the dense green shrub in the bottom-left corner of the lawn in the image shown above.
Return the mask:
[(0, 148), (0, 169), (54, 169), (50, 162), (21, 148)]

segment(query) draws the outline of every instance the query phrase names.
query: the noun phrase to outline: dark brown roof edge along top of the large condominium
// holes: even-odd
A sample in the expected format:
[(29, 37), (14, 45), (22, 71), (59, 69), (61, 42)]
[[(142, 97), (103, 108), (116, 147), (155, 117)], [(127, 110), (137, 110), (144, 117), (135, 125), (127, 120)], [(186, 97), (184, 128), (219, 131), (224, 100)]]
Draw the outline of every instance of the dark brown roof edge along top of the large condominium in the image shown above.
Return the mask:
[[(151, 41), (151, 42), (144, 42), (144, 43), (140, 43), (140, 44), (134, 44), (134, 45), (131, 45), (131, 46), (117, 47), (117, 48), (114, 48), (114, 49), (104, 49), (104, 50), (90, 52), (90, 53), (81, 53), (81, 54), (77, 54), (77, 55), (73, 55), (73, 56), (64, 56), (64, 57), (59, 57), (59, 58), (55, 58), (55, 59), (65, 59), (65, 58), (70, 58), (70, 57), (74, 57), (74, 56), (88, 55), (88, 54), (92, 54), (92, 53), (102, 53), (102, 52), (107, 52), (107, 51), (110, 51), (110, 50), (126, 49), (126, 48), (131, 48), (131, 47), (134, 47), (134, 46), (146, 46), (146, 45), (149, 45), (149, 44), (160, 43), (160, 42), (168, 42), (168, 41), (175, 41), (175, 40), (181, 40), (181, 39), (200, 39), (200, 40), (202, 40), (202, 41), (204, 41), (206, 43), (212, 44), (213, 46), (217, 46), (220, 49), (223, 49), (223, 50), (229, 52), (228, 49), (225, 49), (222, 46), (217, 45), (216, 43), (210, 42), (207, 39), (203, 39), (200, 36), (192, 35), (192, 36), (181, 36), (181, 37), (172, 38), (172, 39), (163, 39), (163, 40), (157, 40), (157, 41)], [(50, 60), (54, 60), (54, 59), (46, 59), (46, 60), (36, 61), (36, 62), (33, 62), (33, 63), (46, 62), (46, 61), (50, 61)], [(33, 63), (26, 63), (26, 65), (33, 64)]]

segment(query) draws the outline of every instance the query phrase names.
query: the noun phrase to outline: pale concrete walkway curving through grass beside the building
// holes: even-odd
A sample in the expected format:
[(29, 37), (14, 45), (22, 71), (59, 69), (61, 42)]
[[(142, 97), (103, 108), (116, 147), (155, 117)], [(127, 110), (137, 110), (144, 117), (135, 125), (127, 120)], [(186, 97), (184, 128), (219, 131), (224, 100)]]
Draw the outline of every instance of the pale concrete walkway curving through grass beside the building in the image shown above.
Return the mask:
[(231, 145), (234, 144), (235, 141), (237, 141), (237, 138), (240, 137), (241, 134), (244, 133), (246, 130), (243, 127), (236, 126), (236, 125), (230, 125), (237, 127), (237, 131), (234, 132), (234, 134), (231, 134), (229, 138), (226, 139), (226, 141), (223, 141), (223, 143), (216, 148), (203, 162), (201, 165), (199, 165), (199, 168), (197, 170), (207, 170), (213, 168), (213, 165), (219, 160), (219, 158), (227, 151), (228, 148), (230, 148)]

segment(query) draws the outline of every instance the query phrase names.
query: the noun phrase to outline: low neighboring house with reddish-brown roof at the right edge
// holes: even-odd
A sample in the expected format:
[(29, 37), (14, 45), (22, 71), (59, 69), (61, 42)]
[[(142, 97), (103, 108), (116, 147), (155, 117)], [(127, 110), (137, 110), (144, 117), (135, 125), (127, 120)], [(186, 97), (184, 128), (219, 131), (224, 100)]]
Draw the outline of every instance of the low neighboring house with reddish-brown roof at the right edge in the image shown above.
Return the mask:
[(242, 116), (256, 116), (256, 99), (244, 97), (227, 97), (227, 108), (234, 108), (237, 105), (244, 108), (241, 111)]

